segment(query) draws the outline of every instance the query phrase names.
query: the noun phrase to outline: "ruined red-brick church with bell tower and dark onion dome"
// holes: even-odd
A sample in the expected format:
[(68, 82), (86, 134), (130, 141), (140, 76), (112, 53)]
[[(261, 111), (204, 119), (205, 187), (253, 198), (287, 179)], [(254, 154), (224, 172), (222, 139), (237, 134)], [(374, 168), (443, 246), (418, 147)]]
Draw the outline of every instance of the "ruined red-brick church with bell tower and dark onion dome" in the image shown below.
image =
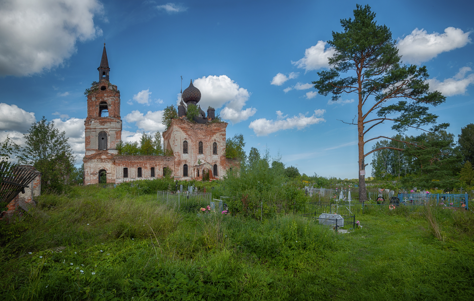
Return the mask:
[[(99, 82), (87, 95), (85, 124), (84, 185), (121, 183), (137, 179), (154, 179), (169, 175), (175, 179), (221, 178), (231, 161), (225, 156), (227, 123), (216, 122), (215, 110), (207, 116), (201, 107), (194, 120), (186, 117), (190, 106), (198, 106), (201, 91), (191, 84), (182, 91), (178, 118), (163, 132), (164, 150), (173, 156), (124, 156), (118, 153), (121, 141), (120, 91), (109, 81), (109, 61), (104, 49), (99, 71)], [(161, 123), (161, 120), (157, 120)], [(169, 151), (168, 151), (169, 153)]]

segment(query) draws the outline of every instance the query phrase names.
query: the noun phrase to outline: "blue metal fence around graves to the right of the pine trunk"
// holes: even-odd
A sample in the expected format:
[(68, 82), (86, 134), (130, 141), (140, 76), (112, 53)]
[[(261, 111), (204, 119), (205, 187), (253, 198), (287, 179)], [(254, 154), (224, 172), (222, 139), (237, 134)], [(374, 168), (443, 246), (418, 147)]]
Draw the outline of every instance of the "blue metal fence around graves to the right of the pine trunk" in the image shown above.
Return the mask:
[(399, 194), (400, 204), (423, 205), (426, 202), (435, 202), (441, 206), (468, 207), (467, 194)]

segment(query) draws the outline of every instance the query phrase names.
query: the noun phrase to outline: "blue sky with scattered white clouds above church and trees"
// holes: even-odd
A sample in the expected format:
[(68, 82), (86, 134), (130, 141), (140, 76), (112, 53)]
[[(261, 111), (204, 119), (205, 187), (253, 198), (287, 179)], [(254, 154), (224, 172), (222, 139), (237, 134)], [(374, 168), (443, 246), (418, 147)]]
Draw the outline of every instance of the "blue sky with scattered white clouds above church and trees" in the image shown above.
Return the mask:
[[(70, 137), (79, 163), (83, 92), (98, 78), (105, 38), (110, 82), (121, 92), (123, 140), (163, 131), (161, 111), (176, 104), (182, 76), (183, 89), (190, 80), (201, 89), (204, 110), (212, 105), (225, 117), (228, 137), (244, 134), (247, 153), (268, 147), (301, 173), (357, 177), (356, 128), (337, 121), (352, 120), (356, 96), (328, 103), (306, 85), (327, 69), (324, 42), (342, 30), (339, 19), (353, 17), (356, 3), (2, 1), (1, 136), (21, 143), (44, 115)], [(472, 1), (361, 4), (391, 28), (404, 62), (428, 67), (430, 86), (447, 95), (433, 111), (460, 133), (473, 120)], [(377, 126), (371, 136), (391, 136), (391, 126)]]

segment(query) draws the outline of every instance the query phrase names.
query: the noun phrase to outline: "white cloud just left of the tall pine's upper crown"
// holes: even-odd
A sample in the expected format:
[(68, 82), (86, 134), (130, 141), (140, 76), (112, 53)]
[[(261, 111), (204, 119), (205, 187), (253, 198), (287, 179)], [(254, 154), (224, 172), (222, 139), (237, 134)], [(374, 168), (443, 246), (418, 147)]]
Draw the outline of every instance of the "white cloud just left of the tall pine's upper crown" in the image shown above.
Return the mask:
[(296, 62), (292, 61), (292, 64), (298, 68), (305, 69), (306, 72), (327, 68), (329, 66), (328, 58), (336, 53), (336, 50), (332, 47), (324, 50), (326, 44), (324, 41), (318, 41), (316, 45), (305, 50), (304, 57), (301, 60)]

